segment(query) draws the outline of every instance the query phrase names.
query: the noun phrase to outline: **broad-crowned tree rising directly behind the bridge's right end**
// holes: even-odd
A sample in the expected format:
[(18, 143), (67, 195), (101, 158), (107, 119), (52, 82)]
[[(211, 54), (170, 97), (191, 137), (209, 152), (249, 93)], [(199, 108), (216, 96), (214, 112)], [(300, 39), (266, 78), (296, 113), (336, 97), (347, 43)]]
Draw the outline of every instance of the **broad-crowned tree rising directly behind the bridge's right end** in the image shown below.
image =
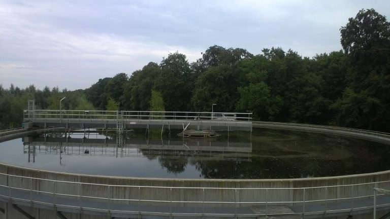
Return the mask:
[(243, 60), (253, 57), (245, 49), (221, 46), (209, 47), (192, 66), (198, 70), (191, 104), (196, 111), (208, 111), (212, 103), (224, 112), (233, 112), (240, 98), (237, 90), (244, 85), (245, 76), (239, 68)]

